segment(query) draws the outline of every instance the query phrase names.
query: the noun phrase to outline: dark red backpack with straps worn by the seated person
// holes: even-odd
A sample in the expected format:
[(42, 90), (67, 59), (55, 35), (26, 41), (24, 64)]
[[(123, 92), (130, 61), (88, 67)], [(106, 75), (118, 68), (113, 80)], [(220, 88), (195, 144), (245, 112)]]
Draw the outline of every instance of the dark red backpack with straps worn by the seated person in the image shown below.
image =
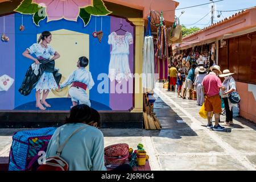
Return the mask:
[(71, 139), (73, 135), (81, 131), (82, 129), (85, 129), (87, 126), (82, 126), (79, 129), (75, 130), (66, 140), (65, 142), (60, 146), (59, 143), (59, 135), (60, 135), (60, 128), (57, 130), (57, 138), (56, 143), (58, 144), (56, 155), (55, 156), (49, 156), (46, 158), (45, 162), (39, 166), (37, 171), (68, 171), (68, 163), (65, 161), (65, 159), (61, 158), (61, 152), (63, 151), (63, 148), (68, 143), (68, 140)]

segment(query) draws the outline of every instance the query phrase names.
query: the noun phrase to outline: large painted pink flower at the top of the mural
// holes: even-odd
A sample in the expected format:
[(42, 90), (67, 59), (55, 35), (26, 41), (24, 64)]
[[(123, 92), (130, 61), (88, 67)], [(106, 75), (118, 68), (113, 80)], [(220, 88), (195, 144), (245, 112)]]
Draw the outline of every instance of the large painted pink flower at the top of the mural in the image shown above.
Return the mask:
[(92, 0), (33, 0), (32, 2), (46, 7), (47, 22), (63, 18), (76, 22), (80, 8), (90, 6)]

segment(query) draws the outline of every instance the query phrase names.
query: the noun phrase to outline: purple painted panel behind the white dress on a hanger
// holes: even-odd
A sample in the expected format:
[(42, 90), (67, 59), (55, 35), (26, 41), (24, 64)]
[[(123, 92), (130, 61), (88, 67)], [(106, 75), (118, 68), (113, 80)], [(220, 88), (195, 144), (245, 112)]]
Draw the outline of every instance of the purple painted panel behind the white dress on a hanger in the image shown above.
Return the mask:
[[(111, 23), (110, 32), (118, 30), (120, 28), (121, 18), (112, 17), (110, 23)], [(134, 27), (131, 26), (131, 24), (129, 22), (127, 22), (125, 19), (122, 19), (122, 24), (123, 24), (122, 29), (130, 32), (131, 35), (133, 35), (133, 37), (134, 37)], [(125, 32), (118, 31), (117, 34), (125, 35)], [(135, 42), (134, 42), (134, 44), (135, 44)], [(130, 65), (131, 73), (134, 73), (134, 44), (130, 45), (129, 65)], [(131, 79), (131, 81), (132, 80), (133, 79)], [(116, 85), (117, 85), (117, 82), (115, 82), (115, 86)], [(133, 84), (131, 84), (131, 85), (133, 85)], [(113, 89), (113, 86), (114, 85), (112, 83), (110, 83), (110, 90)], [(131, 92), (129, 92), (129, 89), (133, 90), (133, 86), (129, 87), (129, 82), (127, 82), (127, 93), (121, 93), (121, 94), (110, 93), (109, 94), (110, 95), (109, 96), (110, 97), (110, 99), (109, 99), (110, 108), (112, 108), (113, 110), (129, 110), (133, 106), (133, 94)], [(116, 92), (116, 90), (115, 90), (115, 92)]]

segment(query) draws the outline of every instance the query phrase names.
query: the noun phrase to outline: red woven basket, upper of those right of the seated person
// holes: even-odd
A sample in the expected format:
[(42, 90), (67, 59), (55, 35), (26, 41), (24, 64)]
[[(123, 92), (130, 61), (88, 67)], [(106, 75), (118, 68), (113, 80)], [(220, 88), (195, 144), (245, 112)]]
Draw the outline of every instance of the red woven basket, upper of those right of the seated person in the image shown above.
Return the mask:
[(112, 144), (104, 148), (104, 153), (108, 157), (125, 156), (129, 153), (129, 146), (126, 143)]

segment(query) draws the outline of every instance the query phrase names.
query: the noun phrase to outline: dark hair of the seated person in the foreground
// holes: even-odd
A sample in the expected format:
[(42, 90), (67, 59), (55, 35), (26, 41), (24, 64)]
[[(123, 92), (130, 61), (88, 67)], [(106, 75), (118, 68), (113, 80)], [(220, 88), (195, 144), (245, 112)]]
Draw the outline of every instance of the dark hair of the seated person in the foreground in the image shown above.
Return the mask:
[(100, 127), (100, 114), (97, 110), (85, 104), (73, 106), (69, 118), (66, 117), (65, 124), (82, 122), (86, 122), (86, 124), (97, 122), (97, 126)]

